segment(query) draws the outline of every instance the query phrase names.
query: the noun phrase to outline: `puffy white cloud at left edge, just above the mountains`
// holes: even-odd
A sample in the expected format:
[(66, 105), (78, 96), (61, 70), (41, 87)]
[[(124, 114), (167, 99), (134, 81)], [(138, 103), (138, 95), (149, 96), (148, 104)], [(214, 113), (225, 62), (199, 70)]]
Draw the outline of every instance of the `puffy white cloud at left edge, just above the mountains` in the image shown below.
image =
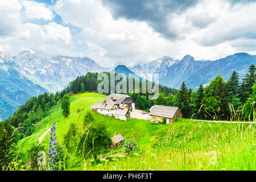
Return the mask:
[(43, 26), (25, 23), (19, 36), (0, 38), (0, 49), (12, 55), (23, 50), (30, 50), (43, 57), (71, 55), (69, 49), (72, 46), (69, 27), (54, 22)]

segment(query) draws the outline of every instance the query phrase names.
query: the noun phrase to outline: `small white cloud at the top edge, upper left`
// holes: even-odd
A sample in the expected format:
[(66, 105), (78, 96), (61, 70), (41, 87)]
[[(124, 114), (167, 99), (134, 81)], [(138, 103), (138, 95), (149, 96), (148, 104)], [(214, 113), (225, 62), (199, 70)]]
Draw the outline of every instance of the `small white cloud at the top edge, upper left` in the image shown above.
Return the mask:
[(22, 5), (25, 7), (25, 15), (28, 19), (53, 19), (53, 13), (46, 7), (45, 3), (23, 1)]

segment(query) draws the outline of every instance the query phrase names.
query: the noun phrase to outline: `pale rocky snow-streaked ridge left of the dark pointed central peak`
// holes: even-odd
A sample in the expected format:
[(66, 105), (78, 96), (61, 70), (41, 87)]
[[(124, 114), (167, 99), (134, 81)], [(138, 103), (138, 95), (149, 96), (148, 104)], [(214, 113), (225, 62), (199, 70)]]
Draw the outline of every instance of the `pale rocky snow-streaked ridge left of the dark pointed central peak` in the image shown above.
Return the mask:
[(23, 51), (14, 56), (13, 61), (15, 68), (52, 92), (62, 90), (70, 81), (87, 72), (109, 71), (88, 57), (55, 56), (47, 59)]

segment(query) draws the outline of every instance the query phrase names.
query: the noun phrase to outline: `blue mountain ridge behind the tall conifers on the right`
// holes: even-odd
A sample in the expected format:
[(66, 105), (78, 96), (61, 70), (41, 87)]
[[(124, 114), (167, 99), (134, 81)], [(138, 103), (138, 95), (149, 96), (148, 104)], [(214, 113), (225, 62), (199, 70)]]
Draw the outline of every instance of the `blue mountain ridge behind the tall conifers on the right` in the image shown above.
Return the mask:
[[(156, 61), (159, 64), (155, 64)], [(194, 57), (186, 55), (181, 60), (163, 57), (147, 64), (137, 64), (130, 69), (144, 77), (146, 74), (150, 77), (158, 73), (159, 82), (171, 88), (179, 89), (182, 81), (185, 81), (188, 87), (195, 89), (200, 83), (209, 84), (217, 75), (228, 80), (234, 70), (242, 78), (251, 64), (256, 64), (256, 56), (248, 53), (235, 53), (215, 61), (195, 60)]]

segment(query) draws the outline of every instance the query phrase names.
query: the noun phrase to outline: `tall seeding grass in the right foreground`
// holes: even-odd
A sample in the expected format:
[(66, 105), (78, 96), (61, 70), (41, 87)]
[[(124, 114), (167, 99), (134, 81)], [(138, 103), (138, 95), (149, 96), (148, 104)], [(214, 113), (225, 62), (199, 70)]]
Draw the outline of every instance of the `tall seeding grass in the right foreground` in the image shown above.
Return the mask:
[[(115, 156), (101, 163), (86, 162), (86, 170), (255, 170), (256, 138), (253, 125), (226, 123), (208, 128), (171, 127), (165, 140), (147, 151)], [(178, 137), (183, 133), (183, 137)], [(114, 159), (114, 160), (113, 160)]]

